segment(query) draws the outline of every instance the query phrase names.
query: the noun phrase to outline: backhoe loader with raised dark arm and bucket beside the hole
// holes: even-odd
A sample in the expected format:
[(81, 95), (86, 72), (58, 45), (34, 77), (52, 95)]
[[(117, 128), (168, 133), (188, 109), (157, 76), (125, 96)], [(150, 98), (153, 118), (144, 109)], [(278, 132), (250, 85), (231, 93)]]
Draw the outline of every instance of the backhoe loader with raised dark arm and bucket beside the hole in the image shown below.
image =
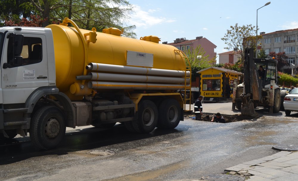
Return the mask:
[[(253, 48), (246, 48), (243, 61), (243, 83), (234, 83), (232, 109), (241, 109), (242, 115), (257, 116), (257, 106), (279, 112), (281, 104), (277, 61), (267, 58), (253, 58)], [(235, 80), (237, 81), (237, 80)]]

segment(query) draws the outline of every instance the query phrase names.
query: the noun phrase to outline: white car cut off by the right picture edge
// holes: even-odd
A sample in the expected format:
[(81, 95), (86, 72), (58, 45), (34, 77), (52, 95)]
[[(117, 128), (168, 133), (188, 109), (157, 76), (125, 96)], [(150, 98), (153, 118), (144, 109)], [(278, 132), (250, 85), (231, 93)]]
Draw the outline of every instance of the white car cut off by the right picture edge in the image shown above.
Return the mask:
[(291, 111), (298, 112), (298, 88), (294, 88), (285, 96), (283, 107), (285, 108), (285, 115), (290, 115)]

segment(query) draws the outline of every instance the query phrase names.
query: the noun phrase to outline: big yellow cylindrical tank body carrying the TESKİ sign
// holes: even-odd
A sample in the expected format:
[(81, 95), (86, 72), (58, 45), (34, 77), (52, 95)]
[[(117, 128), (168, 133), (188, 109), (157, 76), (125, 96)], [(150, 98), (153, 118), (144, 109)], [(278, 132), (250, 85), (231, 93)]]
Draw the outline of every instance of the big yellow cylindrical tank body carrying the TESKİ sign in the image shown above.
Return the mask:
[[(84, 71), (86, 74), (85, 67), (89, 63), (129, 66), (126, 61), (127, 51), (152, 53), (153, 67), (150, 68), (186, 70), (183, 58), (174, 51), (175, 47), (150, 42), (147, 39), (144, 41), (113, 35), (115, 33), (96, 32), (96, 42), (87, 43), (88, 60), (85, 62), (83, 41), (75, 28), (63, 25), (49, 25), (47, 28), (52, 29), (54, 39), (56, 85), (64, 93), (69, 92), (72, 84), (80, 82), (76, 80), (76, 76), (83, 75)], [(80, 31), (82, 34), (91, 32), (84, 29)], [(117, 34), (114, 29), (108, 29), (105, 32)]]

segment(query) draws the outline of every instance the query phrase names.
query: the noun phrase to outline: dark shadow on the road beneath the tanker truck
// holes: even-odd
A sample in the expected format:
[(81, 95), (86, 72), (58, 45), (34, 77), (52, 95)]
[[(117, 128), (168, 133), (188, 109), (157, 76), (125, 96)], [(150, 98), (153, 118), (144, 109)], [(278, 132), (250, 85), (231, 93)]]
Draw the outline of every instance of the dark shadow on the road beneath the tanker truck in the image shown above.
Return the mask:
[[(138, 134), (127, 131), (122, 124), (117, 124), (111, 129), (104, 130), (101, 128), (90, 127), (79, 129), (75, 132), (66, 132), (62, 143), (52, 150), (37, 150), (30, 142), (29, 136), (16, 138), (13, 139), (11, 143), (0, 145), (0, 165), (15, 163), (28, 158), (44, 155), (67, 155), (69, 152), (91, 150), (146, 138), (155, 137), (155, 139), (167, 141), (179, 137), (179, 133), (183, 133), (188, 129), (189, 127), (179, 125), (171, 130), (156, 128), (149, 134)], [(154, 142), (153, 139), (150, 140)], [(142, 142), (133, 142), (133, 144), (130, 144), (130, 146), (125, 149), (142, 146), (142, 144)]]

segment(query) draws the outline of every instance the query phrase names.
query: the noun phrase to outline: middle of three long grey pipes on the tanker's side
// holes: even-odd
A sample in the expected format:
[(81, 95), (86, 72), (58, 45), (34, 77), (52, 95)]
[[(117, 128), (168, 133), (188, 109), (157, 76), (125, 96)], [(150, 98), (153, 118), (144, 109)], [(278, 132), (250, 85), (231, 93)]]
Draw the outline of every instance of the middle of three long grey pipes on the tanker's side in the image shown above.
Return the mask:
[[(89, 76), (91, 78), (89, 78)], [(126, 81), (126, 82), (162, 82), (162, 83), (184, 83), (185, 79), (181, 77), (160, 77), (160, 76), (148, 76), (148, 75), (129, 75), (129, 74), (110, 74), (110, 73), (98, 73), (90, 72), (87, 76), (77, 76), (77, 80), (108, 80), (108, 81)], [(79, 78), (79, 79), (78, 79)], [(186, 79), (186, 83), (189, 84), (190, 79)]]

